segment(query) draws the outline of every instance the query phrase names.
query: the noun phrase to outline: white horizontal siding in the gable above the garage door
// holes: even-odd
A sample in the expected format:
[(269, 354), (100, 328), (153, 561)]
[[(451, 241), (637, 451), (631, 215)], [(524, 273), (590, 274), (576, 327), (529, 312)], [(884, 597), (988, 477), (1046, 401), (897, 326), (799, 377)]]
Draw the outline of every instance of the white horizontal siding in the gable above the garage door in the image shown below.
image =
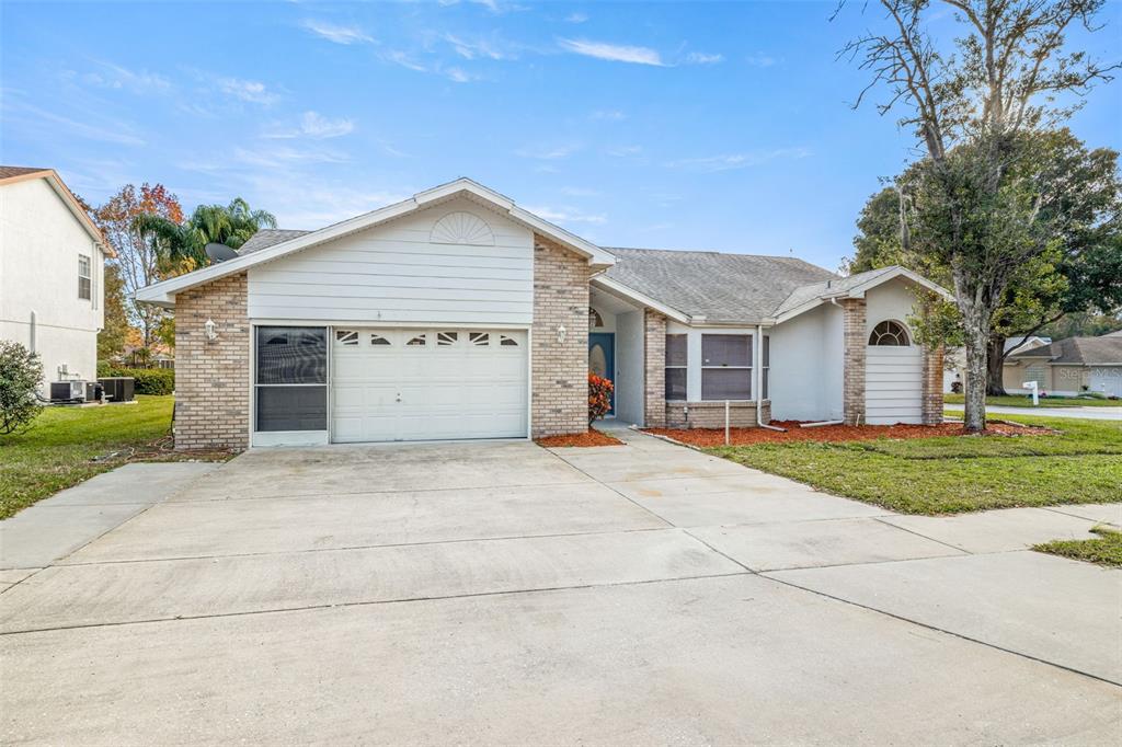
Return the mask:
[[(494, 243), (433, 242), (458, 212), (486, 222)], [(461, 197), (250, 269), (249, 316), (527, 325), (533, 253), (528, 229)]]

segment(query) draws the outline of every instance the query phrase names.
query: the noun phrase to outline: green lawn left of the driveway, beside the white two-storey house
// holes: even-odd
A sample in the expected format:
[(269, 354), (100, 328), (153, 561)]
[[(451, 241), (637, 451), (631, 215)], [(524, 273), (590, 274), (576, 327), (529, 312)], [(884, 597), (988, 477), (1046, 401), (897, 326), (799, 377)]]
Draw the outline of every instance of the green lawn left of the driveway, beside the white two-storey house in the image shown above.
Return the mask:
[(169, 445), (173, 398), (137, 400), (136, 405), (48, 407), (27, 431), (0, 436), (0, 519), (130, 459), (184, 459), (160, 449)]

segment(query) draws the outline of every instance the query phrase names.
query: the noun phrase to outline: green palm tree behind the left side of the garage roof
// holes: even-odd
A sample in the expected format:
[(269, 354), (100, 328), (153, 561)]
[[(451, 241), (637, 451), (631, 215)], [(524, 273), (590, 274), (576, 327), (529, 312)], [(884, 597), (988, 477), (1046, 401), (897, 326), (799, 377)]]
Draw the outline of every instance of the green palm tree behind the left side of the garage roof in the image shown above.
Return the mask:
[(237, 249), (261, 228), (276, 228), (277, 219), (264, 210), (252, 210), (241, 197), (229, 205), (199, 205), (184, 223), (160, 215), (138, 215), (132, 230), (147, 237), (159, 256), (171, 265), (190, 260), (195, 266), (210, 264), (208, 243), (224, 243)]

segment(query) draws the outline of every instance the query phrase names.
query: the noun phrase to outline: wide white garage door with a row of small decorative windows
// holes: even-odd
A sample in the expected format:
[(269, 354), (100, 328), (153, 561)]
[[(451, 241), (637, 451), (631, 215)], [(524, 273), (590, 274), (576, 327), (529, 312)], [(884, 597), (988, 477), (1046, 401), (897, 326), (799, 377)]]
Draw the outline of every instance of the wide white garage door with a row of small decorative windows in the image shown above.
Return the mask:
[(332, 333), (332, 440), (524, 437), (527, 338), (514, 330)]

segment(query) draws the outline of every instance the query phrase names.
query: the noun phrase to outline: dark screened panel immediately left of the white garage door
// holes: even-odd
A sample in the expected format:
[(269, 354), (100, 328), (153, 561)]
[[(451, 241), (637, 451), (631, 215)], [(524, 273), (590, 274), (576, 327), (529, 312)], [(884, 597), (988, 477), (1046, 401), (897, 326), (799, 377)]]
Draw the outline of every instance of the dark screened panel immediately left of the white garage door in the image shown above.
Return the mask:
[[(344, 336), (337, 340), (347, 342)], [(357, 340), (357, 336), (356, 336)], [(257, 431), (328, 430), (328, 333), (322, 326), (259, 326)], [(222, 396), (221, 390), (214, 393)]]

